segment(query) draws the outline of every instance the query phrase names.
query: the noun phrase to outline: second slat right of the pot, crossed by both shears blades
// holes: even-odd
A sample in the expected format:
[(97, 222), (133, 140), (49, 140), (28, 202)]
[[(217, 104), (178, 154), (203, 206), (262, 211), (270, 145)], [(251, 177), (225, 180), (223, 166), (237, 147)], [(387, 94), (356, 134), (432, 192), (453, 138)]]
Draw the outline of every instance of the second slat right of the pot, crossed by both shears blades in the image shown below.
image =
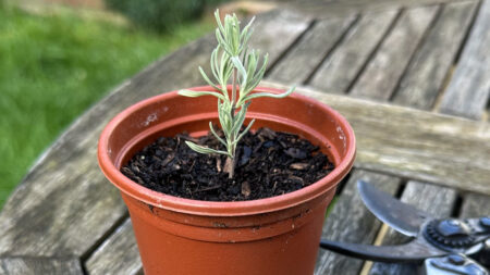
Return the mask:
[[(456, 191), (454, 189), (429, 185), (418, 182), (408, 182), (402, 193), (401, 200), (417, 209), (426, 211), (433, 217), (449, 217), (454, 202)], [(390, 228), (382, 240), (383, 246), (402, 245), (411, 238)], [(375, 263), (369, 274), (418, 274), (415, 264), (387, 264)]]

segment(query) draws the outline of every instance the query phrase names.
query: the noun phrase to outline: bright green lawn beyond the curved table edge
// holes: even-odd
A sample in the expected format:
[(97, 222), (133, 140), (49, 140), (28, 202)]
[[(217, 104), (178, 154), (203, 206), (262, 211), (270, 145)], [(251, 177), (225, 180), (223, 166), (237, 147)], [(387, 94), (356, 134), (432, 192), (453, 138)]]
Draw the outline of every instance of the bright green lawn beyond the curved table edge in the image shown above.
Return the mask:
[(212, 29), (145, 33), (73, 14), (0, 8), (0, 208), (76, 116), (139, 70)]

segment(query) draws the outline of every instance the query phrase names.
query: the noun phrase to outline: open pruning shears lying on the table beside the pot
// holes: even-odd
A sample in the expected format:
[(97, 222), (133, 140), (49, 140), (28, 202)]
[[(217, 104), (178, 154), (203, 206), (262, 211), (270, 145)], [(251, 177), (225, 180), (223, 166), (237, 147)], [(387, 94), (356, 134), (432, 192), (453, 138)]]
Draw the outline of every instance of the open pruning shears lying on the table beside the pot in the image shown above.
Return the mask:
[(322, 239), (320, 247), (364, 260), (424, 263), (427, 275), (489, 275), (490, 216), (434, 218), (372, 185), (358, 180), (366, 207), (396, 232), (413, 237), (399, 246), (369, 246)]

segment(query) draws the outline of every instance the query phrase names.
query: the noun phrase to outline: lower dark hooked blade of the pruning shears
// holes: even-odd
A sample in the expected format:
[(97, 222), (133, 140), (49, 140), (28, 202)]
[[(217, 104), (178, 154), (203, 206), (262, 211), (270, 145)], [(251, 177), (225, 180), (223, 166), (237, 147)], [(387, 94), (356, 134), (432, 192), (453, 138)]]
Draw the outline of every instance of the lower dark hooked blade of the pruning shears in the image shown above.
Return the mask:
[(422, 262), (427, 258), (448, 254), (448, 252), (432, 247), (422, 238), (416, 238), (401, 246), (383, 247), (343, 243), (322, 239), (320, 247), (348, 257), (387, 263)]

